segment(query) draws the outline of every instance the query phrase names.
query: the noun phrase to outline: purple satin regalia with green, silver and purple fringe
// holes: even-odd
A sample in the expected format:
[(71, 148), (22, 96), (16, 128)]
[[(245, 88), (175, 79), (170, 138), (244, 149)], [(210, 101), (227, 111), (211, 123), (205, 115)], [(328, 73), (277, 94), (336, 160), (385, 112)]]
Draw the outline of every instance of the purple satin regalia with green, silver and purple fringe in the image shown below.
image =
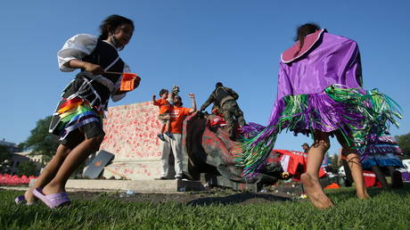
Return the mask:
[(362, 88), (357, 43), (318, 30), (282, 53), (277, 97), (266, 127), (243, 127), (248, 139), (240, 156), (244, 177), (255, 177), (283, 130), (305, 135), (321, 130), (340, 132), (355, 148), (371, 135), (380, 136), (389, 123), (398, 125), (398, 104), (377, 89)]

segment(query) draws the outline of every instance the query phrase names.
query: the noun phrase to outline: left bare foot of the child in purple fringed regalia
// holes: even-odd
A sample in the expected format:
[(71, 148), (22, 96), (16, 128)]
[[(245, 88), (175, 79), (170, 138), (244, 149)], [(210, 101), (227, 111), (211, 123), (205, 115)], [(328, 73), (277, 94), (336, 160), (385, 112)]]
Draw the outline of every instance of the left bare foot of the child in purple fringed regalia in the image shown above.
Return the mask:
[(333, 206), (332, 201), (324, 194), (319, 181), (304, 173), (300, 176), (300, 182), (303, 184), (307, 196), (316, 208), (327, 209)]

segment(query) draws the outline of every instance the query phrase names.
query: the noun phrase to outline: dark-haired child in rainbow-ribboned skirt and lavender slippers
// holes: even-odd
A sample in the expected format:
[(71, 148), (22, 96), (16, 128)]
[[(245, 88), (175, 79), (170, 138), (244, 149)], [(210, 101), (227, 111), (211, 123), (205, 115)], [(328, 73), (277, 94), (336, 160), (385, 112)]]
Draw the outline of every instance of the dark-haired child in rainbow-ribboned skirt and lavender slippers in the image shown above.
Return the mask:
[[(121, 73), (130, 70), (119, 57), (119, 51), (131, 39), (134, 23), (111, 15), (102, 21), (100, 30), (100, 37), (71, 37), (57, 53), (61, 71), (80, 71), (63, 90), (53, 113), (50, 132), (61, 137), (61, 144), (36, 184), (16, 198), (19, 203), (31, 204), (38, 198), (51, 209), (70, 203), (65, 185), (88, 155), (98, 151), (105, 135), (102, 116), (110, 97), (117, 102), (127, 93), (119, 88)], [(134, 87), (138, 85), (136, 78)]]

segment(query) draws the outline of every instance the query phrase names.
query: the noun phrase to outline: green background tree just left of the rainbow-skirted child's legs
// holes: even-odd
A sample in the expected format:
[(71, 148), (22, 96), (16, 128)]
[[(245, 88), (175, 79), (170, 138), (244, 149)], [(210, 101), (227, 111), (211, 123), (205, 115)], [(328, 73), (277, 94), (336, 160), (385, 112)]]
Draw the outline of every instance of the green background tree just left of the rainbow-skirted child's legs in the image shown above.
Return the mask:
[(33, 155), (43, 155), (45, 162), (51, 160), (59, 145), (57, 136), (48, 132), (51, 119), (52, 116), (39, 119), (27, 141), (20, 145), (25, 150), (31, 150)]

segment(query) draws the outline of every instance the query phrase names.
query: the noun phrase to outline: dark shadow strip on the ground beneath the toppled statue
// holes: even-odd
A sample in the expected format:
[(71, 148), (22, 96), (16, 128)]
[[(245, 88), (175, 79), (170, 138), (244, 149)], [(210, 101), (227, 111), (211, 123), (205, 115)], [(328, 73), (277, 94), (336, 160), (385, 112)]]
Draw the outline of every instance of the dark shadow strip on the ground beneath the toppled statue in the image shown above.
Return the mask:
[(188, 205), (206, 206), (211, 204), (260, 203), (263, 201), (291, 201), (290, 198), (264, 193), (237, 193), (225, 197), (205, 197), (187, 202)]

